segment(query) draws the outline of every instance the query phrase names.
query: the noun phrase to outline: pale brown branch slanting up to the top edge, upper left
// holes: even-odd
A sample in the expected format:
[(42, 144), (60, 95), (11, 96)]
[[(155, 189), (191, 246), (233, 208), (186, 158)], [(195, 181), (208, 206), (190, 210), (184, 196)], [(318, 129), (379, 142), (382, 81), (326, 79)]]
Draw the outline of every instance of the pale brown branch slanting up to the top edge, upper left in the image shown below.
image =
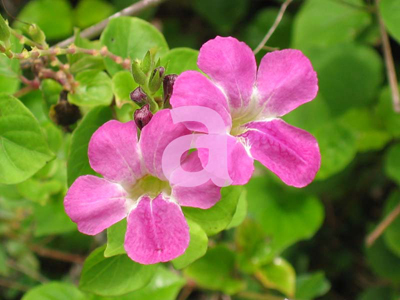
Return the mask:
[[(113, 14), (112, 16), (108, 17), (107, 19), (89, 27), (83, 30), (80, 33), (80, 36), (83, 38), (94, 38), (95, 36), (98, 36), (103, 29), (107, 26), (108, 22), (110, 22), (111, 19), (121, 17), (121, 16), (132, 16), (132, 15), (137, 15), (141, 11), (145, 10), (146, 8), (156, 6), (163, 2), (165, 0), (142, 0), (140, 2), (137, 2), (135, 4), (132, 4), (131, 6), (128, 6), (127, 8), (124, 8), (123, 10)], [(56, 46), (59, 47), (66, 47), (69, 44), (73, 43), (75, 40), (75, 37), (70, 37), (62, 42), (59, 42)]]

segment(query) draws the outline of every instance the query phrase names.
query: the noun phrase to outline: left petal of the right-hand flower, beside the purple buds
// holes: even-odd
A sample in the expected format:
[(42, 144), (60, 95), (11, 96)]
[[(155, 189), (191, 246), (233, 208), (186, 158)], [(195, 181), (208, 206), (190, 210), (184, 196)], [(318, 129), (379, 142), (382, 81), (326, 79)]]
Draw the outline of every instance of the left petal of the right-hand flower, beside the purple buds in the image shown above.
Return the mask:
[[(204, 106), (215, 110), (223, 119), (228, 131), (232, 119), (225, 95), (207, 77), (196, 71), (183, 72), (176, 79), (170, 99), (173, 108), (180, 106)], [(193, 131), (206, 132), (199, 123), (185, 122)]]

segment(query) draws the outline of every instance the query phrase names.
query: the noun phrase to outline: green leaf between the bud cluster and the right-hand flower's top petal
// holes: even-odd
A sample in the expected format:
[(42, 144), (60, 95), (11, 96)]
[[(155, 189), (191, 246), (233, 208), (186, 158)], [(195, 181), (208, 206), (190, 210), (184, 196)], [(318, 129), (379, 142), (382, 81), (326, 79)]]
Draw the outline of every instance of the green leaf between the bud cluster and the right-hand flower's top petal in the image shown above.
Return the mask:
[(169, 50), (167, 54), (161, 57), (161, 65), (167, 67), (167, 74), (181, 74), (183, 71), (199, 71), (197, 66), (197, 57), (199, 51), (190, 48), (175, 48)]

